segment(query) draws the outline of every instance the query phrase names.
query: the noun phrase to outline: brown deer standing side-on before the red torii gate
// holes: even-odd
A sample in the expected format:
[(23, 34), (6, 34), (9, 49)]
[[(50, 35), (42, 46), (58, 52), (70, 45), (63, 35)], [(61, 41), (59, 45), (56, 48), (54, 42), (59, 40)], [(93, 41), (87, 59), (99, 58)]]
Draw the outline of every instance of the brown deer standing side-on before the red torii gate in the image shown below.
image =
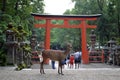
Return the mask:
[(71, 44), (66, 45), (65, 51), (63, 50), (43, 50), (43, 51), (38, 51), (38, 57), (40, 60), (40, 73), (45, 74), (44, 72), (44, 62), (49, 58), (53, 61), (58, 61), (58, 74), (64, 75), (62, 71), (62, 61), (65, 60), (67, 55), (70, 53), (72, 49)]

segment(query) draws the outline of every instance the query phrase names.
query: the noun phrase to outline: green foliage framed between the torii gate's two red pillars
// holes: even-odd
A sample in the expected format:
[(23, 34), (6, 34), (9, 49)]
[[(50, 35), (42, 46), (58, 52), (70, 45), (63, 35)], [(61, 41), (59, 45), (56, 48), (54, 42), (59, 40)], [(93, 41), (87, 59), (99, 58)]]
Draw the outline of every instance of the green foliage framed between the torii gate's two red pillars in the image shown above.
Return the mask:
[(51, 45), (60, 44), (63, 47), (65, 43), (70, 42), (73, 47), (80, 47), (78, 44), (80, 41), (80, 29), (53, 28), (51, 30)]

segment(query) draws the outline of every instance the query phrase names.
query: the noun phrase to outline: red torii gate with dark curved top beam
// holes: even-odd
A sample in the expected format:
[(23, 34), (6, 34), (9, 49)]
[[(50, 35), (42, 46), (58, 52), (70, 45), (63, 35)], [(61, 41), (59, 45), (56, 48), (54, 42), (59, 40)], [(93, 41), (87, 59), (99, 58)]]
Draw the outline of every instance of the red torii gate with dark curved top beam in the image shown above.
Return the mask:
[[(45, 24), (34, 24), (36, 28), (46, 28), (45, 49), (50, 49), (50, 29), (51, 28), (81, 28), (82, 34), (82, 60), (83, 64), (89, 63), (89, 56), (86, 42), (86, 28), (96, 28), (96, 25), (88, 25), (87, 20), (97, 20), (101, 14), (95, 15), (48, 15), (32, 13), (35, 20), (45, 20)], [(52, 24), (51, 20), (63, 20), (63, 24)], [(78, 25), (70, 25), (70, 20), (81, 21)]]

